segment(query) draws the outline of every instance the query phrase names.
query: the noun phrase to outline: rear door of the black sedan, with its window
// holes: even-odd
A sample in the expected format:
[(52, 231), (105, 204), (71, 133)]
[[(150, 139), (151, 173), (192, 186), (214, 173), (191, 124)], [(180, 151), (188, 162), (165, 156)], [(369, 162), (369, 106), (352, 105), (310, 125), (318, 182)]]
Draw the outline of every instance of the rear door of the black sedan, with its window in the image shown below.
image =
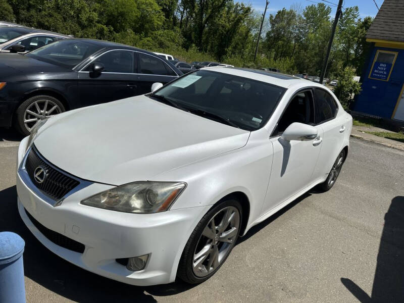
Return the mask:
[(177, 73), (157, 56), (137, 52), (138, 58), (138, 92), (149, 93), (155, 82), (166, 84), (178, 77)]

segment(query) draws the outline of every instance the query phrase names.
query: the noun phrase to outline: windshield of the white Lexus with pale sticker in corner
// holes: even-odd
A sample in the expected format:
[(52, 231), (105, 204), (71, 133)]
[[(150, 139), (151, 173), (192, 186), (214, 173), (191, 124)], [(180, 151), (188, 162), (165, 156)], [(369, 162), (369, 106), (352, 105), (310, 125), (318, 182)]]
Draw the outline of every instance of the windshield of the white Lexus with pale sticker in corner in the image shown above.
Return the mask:
[(265, 125), (285, 90), (266, 82), (198, 70), (155, 95), (196, 115), (252, 131)]

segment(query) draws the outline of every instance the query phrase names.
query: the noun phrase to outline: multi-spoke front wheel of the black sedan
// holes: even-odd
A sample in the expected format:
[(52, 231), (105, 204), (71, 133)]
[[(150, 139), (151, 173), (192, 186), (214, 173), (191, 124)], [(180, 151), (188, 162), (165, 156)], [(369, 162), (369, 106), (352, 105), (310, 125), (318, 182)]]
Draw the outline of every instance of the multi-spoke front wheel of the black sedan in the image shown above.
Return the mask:
[(43, 119), (65, 111), (63, 104), (49, 95), (36, 95), (26, 99), (16, 111), (16, 129), (29, 135), (31, 129)]

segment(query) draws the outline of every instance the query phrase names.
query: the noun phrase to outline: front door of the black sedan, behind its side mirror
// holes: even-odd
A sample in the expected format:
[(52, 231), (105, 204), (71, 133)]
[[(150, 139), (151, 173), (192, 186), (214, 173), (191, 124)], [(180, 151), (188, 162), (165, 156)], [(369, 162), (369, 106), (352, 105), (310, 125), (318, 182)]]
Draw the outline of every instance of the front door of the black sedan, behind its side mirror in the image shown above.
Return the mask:
[[(102, 63), (105, 69), (94, 75), (91, 63)], [(110, 102), (138, 94), (137, 58), (133, 51), (114, 49), (108, 51), (79, 72), (79, 96), (81, 106)]]

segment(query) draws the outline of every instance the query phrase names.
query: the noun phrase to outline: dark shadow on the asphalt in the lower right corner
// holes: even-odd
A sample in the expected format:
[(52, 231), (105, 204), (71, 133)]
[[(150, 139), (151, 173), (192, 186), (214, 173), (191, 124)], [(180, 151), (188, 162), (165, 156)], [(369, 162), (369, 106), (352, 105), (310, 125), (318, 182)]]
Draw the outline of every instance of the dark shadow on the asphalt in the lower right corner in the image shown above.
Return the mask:
[(372, 294), (348, 278), (341, 282), (361, 303), (404, 302), (404, 196), (394, 197), (384, 216)]

